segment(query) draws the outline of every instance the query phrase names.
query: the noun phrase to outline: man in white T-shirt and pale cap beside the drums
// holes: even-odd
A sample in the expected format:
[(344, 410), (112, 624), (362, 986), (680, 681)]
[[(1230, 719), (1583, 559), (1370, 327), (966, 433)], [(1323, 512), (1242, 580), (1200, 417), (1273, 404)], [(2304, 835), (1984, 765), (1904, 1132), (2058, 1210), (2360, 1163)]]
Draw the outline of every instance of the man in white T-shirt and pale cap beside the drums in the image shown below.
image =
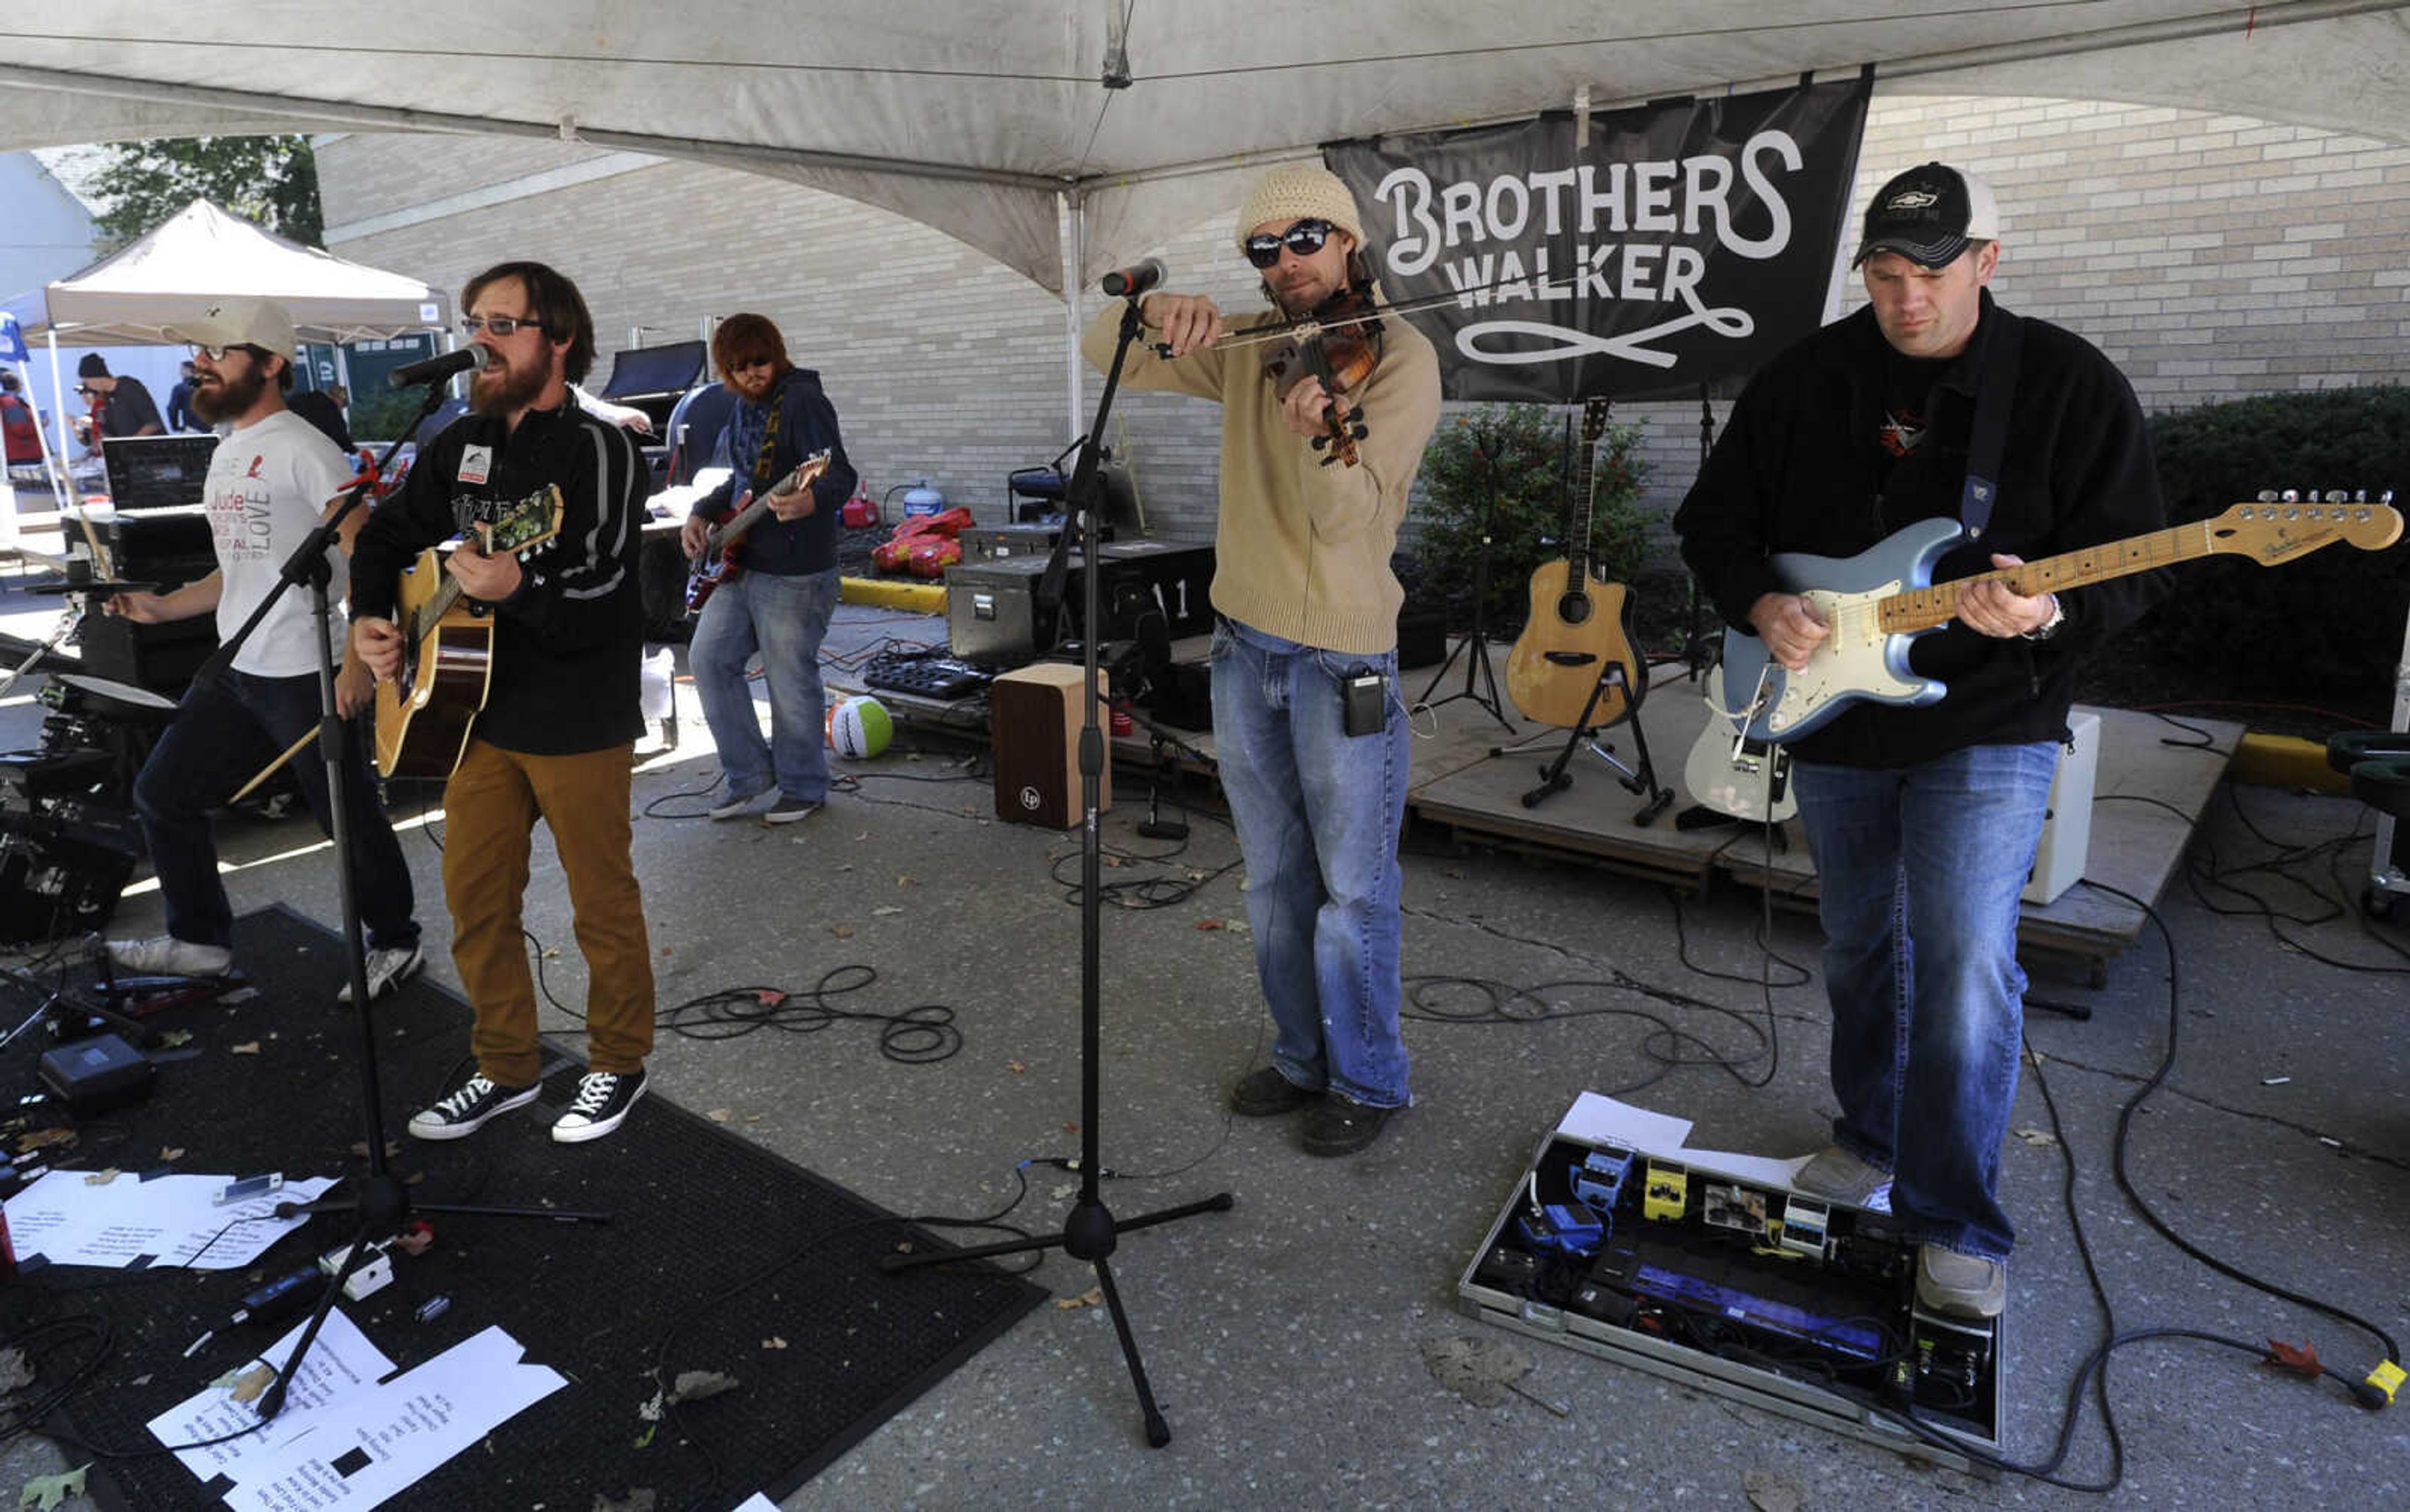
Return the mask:
[[(169, 335), (193, 342), (193, 414), (202, 424), (229, 426), (210, 455), (202, 484), (217, 571), (166, 595), (120, 592), (108, 600), (108, 612), (157, 624), (214, 609), (217, 633), (231, 636), (275, 592), (284, 559), (318, 527), (352, 469), (325, 436), (284, 407), (296, 344), (294, 323), (282, 306), (229, 299), (171, 325)], [(337, 551), (328, 551), (328, 571), (335, 573), (333, 592), (340, 592)], [(311, 595), (287, 592), (243, 640), (231, 667), (207, 684), (193, 684), (142, 763), (135, 816), (159, 874), (166, 934), (108, 941), (111, 958), (125, 970), (217, 978), (234, 968), (234, 910), (217, 879), (210, 809), (318, 722), (313, 636)], [(342, 643), (335, 640), (330, 650), (342, 655)], [(335, 679), (337, 713), (359, 713), (369, 696), (366, 669), (345, 657)], [(359, 884), (359, 917), (369, 932), (374, 1002), (417, 975), (424, 956), (412, 917), (410, 867), (376, 802), (366, 749), (366, 732), (349, 730), (342, 742), (345, 833), (352, 879)], [(318, 833), (333, 838), (325, 763), (316, 751), (304, 751), (292, 761), (292, 773), (318, 819)], [(345, 982), (342, 1002), (349, 999), (352, 987)]]

